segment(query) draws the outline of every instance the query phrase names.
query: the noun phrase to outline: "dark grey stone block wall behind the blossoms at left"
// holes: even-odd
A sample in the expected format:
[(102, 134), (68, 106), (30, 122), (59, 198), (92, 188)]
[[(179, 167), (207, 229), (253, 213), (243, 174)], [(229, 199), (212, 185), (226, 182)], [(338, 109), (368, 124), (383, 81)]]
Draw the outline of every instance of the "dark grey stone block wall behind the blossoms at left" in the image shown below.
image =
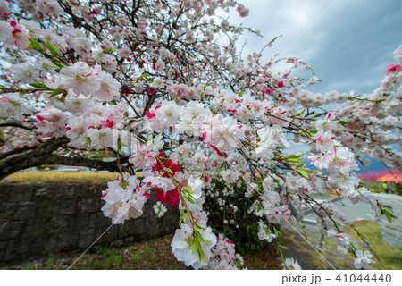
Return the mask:
[[(80, 255), (111, 225), (101, 212), (106, 183), (0, 183), (0, 265)], [(113, 225), (96, 241), (113, 248), (172, 233), (177, 208), (156, 219), (151, 197), (144, 214)]]

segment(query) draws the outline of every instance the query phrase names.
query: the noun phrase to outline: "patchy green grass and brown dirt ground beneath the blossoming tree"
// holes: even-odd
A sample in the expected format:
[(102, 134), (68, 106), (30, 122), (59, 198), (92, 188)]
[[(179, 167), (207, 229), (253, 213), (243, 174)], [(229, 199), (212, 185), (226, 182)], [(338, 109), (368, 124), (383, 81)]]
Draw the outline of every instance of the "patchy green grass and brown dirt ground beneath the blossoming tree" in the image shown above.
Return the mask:
[[(381, 225), (370, 221), (356, 221), (354, 225), (370, 242), (378, 256), (374, 257), (377, 263), (373, 265), (373, 269), (402, 269), (402, 249), (393, 248), (381, 240)], [(306, 237), (314, 245), (312, 248), (296, 231), (286, 227), (282, 231), (285, 235), (281, 237), (280, 243), (289, 248), (282, 250), (284, 257), (295, 258), (303, 269), (354, 269), (353, 258), (339, 253), (331, 241), (327, 241), (325, 252), (316, 252), (316, 233), (310, 232)], [(356, 232), (350, 227), (346, 231), (359, 241)], [(71, 265), (71, 269), (188, 269), (173, 256), (171, 241), (172, 234), (127, 248), (100, 248), (96, 253), (84, 255), (74, 265), (72, 264), (79, 257), (48, 258), (46, 261), (13, 265), (6, 269), (67, 269)], [(248, 269), (282, 268), (280, 256), (270, 247), (249, 253), (244, 256), (244, 260)]]

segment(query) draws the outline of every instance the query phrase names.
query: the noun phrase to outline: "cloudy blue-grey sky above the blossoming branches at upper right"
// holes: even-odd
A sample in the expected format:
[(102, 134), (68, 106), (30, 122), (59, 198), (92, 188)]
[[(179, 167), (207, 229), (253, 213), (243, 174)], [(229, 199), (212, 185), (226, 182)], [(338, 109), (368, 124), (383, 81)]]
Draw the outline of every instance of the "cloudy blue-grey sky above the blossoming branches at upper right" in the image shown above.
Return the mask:
[(370, 93), (378, 88), (393, 51), (402, 44), (401, 0), (239, 0), (250, 9), (247, 18), (230, 13), (230, 20), (259, 29), (264, 38), (249, 33), (247, 53), (259, 51), (275, 36), (282, 35), (264, 52), (266, 59), (282, 54), (303, 58), (322, 80), (315, 92), (337, 89)]

